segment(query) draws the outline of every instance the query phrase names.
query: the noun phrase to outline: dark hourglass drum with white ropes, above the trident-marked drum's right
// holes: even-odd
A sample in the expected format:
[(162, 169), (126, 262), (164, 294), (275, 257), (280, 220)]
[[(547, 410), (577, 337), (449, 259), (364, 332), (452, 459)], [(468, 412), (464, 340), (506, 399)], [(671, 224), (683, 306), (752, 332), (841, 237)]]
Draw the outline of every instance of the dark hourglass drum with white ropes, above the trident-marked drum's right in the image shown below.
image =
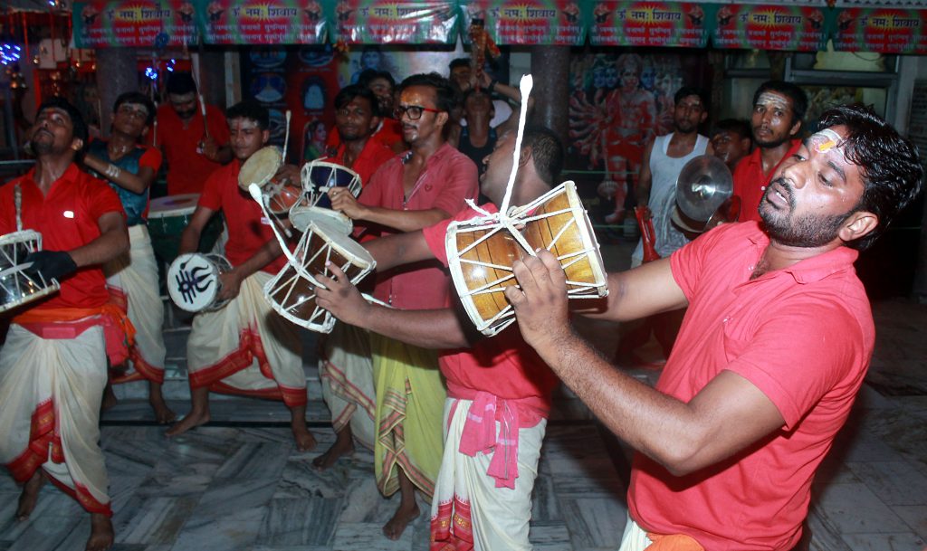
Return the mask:
[(299, 239), (291, 262), (264, 285), (264, 296), (274, 310), (293, 323), (315, 332), (331, 332), (335, 317), (315, 304), (315, 274), (331, 276), (325, 262), (331, 261), (345, 272), (350, 282), (360, 282), (376, 266), (360, 244), (337, 228), (311, 221)]

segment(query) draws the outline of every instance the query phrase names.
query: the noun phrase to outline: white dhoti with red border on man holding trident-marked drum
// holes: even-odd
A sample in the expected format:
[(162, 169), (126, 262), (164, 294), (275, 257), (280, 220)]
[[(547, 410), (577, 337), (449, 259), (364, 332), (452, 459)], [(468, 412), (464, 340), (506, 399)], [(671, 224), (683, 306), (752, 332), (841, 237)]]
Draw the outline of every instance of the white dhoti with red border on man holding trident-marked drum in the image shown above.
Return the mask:
[(225, 307), (193, 319), (186, 344), (191, 388), (273, 398), (287, 407), (307, 403), (297, 327), (264, 298), (272, 277), (263, 271), (248, 276)]

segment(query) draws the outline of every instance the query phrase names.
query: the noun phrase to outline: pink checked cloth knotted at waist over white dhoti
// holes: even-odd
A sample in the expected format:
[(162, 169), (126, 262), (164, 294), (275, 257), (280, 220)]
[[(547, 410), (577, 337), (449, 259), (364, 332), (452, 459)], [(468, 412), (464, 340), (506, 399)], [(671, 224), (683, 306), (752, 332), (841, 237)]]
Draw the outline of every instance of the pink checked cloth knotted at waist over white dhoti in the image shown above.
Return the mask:
[[(477, 392), (467, 412), (460, 453), (474, 457), (492, 454), (489, 476), (497, 488), (515, 487), (518, 478), (518, 429), (521, 427), (517, 400), (504, 400), (487, 392)], [(501, 423), (496, 435), (496, 421)]]

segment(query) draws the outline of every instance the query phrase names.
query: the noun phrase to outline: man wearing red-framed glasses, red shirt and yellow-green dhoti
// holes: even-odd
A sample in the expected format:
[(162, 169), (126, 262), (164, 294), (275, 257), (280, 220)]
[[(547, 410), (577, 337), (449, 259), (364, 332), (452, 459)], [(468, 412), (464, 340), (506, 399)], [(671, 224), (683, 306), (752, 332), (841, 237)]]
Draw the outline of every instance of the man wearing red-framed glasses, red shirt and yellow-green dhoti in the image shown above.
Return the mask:
[[(437, 73), (402, 81), (396, 118), (411, 151), (377, 170), (359, 200), (345, 190), (332, 192), (332, 207), (381, 234), (413, 232), (448, 219), (475, 199), (476, 165), (448, 144), (444, 126), (453, 107), (450, 82)], [(447, 273), (418, 266), (380, 273), (375, 297), (399, 308), (442, 307)], [(376, 483), (384, 495), (401, 492), (396, 514), (383, 527), (399, 539), (419, 515), (414, 488), (434, 493), (441, 452), (444, 384), (434, 351), (372, 334), (376, 386)]]

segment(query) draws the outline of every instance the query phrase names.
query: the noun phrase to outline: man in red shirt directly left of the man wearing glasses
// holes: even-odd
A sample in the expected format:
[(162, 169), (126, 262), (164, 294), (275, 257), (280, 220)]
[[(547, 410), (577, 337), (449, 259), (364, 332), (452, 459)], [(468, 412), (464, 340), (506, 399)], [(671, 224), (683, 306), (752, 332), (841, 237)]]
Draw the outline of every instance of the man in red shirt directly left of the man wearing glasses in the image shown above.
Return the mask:
[[(386, 145), (371, 139), (381, 119), (376, 96), (368, 88), (351, 84), (335, 96), (335, 109), (335, 126), (341, 143), (335, 155), (322, 160), (354, 170), (362, 184), (370, 182), (375, 170), (394, 155)], [(354, 449), (352, 437), (374, 448), (376, 394), (370, 335), (337, 323), (331, 334), (320, 338), (322, 397), (331, 409), (332, 426), (337, 434), (335, 444), (312, 460), (312, 465), (324, 470)]]

